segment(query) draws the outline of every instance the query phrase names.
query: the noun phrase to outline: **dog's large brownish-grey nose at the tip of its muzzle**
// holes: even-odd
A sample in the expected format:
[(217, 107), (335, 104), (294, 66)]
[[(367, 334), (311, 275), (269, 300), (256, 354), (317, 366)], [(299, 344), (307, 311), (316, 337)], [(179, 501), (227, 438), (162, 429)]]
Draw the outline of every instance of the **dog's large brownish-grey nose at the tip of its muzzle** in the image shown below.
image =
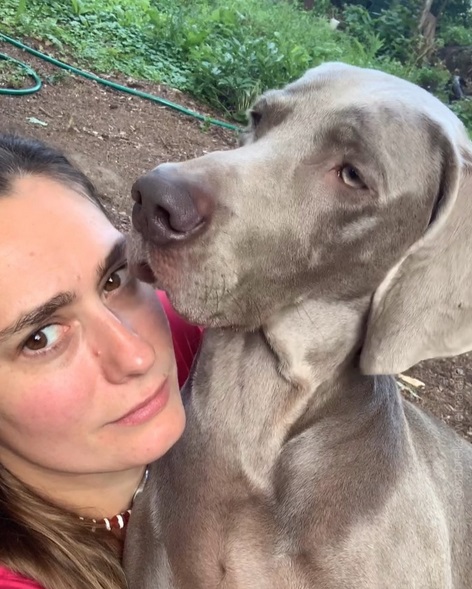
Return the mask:
[(172, 164), (141, 176), (131, 193), (133, 225), (155, 245), (184, 241), (200, 233), (212, 210), (209, 194), (176, 173)]

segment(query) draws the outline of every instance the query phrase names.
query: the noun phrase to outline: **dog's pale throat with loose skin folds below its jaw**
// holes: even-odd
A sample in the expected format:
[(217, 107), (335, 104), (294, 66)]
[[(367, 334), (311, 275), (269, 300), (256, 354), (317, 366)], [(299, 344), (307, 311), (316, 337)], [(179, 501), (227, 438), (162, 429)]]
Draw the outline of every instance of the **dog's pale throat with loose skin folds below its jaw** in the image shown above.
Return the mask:
[(208, 330), (189, 421), (263, 488), (292, 435), (339, 407), (365, 414), (372, 379), (360, 375), (355, 355), (368, 306), (306, 301), (255, 333)]

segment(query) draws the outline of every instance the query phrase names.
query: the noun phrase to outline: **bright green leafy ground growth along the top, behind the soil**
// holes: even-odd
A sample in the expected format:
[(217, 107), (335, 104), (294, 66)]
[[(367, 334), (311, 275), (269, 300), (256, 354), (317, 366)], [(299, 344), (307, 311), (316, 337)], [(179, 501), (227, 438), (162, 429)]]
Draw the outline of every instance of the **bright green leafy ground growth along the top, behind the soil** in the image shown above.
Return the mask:
[[(98, 74), (168, 84), (237, 120), (260, 92), (328, 60), (380, 68), (444, 98), (445, 70), (385, 51), (398, 22), (387, 19), (382, 37), (356, 10), (347, 31), (333, 31), (322, 15), (329, 6), (320, 0), (308, 13), (282, 0), (2, 0), (0, 31)], [(466, 110), (459, 114), (468, 119)]]

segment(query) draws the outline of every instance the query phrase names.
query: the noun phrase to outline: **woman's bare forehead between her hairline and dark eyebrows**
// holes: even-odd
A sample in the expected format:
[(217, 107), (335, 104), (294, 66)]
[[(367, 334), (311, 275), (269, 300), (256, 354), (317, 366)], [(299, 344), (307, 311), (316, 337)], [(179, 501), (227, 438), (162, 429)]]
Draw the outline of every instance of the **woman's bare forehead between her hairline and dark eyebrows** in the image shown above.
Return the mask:
[[(53, 180), (18, 179), (0, 197), (0, 307), (92, 278), (120, 233), (87, 198)], [(13, 304), (13, 306), (16, 306)], [(3, 315), (2, 312), (2, 315)]]

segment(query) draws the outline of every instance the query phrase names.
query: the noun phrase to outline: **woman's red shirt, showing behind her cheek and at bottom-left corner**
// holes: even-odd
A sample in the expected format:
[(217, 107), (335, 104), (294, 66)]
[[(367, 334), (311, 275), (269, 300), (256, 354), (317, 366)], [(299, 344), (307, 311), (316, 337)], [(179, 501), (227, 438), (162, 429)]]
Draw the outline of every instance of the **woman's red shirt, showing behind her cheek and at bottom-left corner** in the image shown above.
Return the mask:
[[(169, 320), (169, 326), (174, 342), (175, 358), (177, 361), (177, 372), (179, 385), (182, 386), (187, 380), (190, 367), (197, 353), (202, 336), (200, 327), (189, 325), (172, 309), (166, 295), (163, 292), (157, 293), (159, 300)], [(34, 581), (30, 581), (20, 575), (12, 573), (0, 566), (0, 589), (42, 589)]]

